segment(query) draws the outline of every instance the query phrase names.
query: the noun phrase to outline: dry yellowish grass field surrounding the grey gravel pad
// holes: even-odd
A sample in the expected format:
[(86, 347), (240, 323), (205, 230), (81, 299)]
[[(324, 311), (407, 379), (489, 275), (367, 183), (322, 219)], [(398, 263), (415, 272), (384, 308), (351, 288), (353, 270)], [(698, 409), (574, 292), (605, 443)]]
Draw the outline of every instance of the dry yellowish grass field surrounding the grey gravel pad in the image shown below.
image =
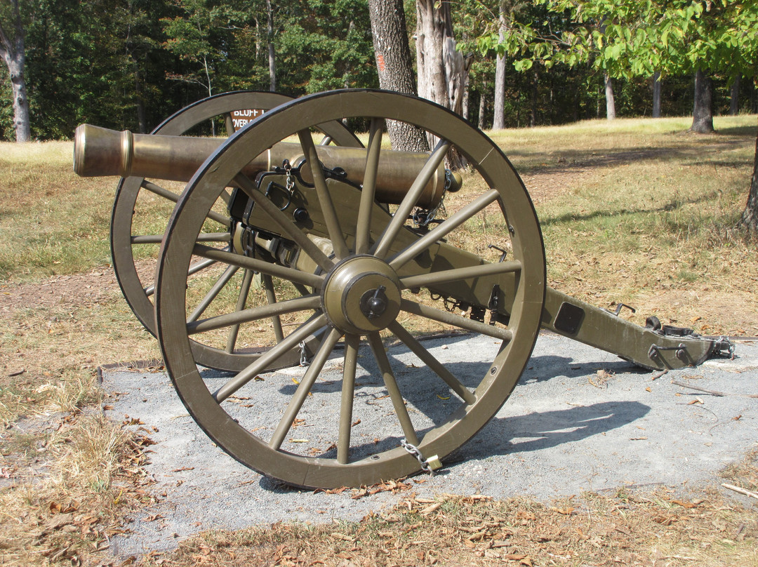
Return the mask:
[[(632, 305), (637, 312), (628, 317), (638, 323), (658, 315), (704, 334), (758, 336), (756, 241), (737, 228), (756, 117), (715, 124), (717, 133), (707, 136), (687, 133), (685, 118), (490, 133), (534, 200), (548, 284), (601, 307)], [(71, 148), (0, 144), (3, 565), (108, 564), (108, 535), (152, 498), (139, 467), (149, 440), (102, 418), (96, 368), (154, 359), (158, 349), (121, 299), (109, 265), (117, 180), (74, 176)], [(480, 228), (471, 238), (486, 249), (496, 232), (486, 219)], [(755, 459), (746, 456), (727, 478), (758, 489)], [(208, 534), (143, 562), (758, 564), (755, 508), (716, 492), (686, 502), (666, 490), (588, 494), (550, 505), (440, 502), (434, 512), (424, 512), (430, 503), (411, 501), (340, 526), (346, 539), (335, 537), (334, 527), (280, 525)], [(362, 534), (371, 537), (357, 545)], [(493, 544), (506, 539), (502, 547)], [(444, 541), (445, 553), (418, 549), (414, 540)], [(389, 556), (384, 549), (392, 550)]]

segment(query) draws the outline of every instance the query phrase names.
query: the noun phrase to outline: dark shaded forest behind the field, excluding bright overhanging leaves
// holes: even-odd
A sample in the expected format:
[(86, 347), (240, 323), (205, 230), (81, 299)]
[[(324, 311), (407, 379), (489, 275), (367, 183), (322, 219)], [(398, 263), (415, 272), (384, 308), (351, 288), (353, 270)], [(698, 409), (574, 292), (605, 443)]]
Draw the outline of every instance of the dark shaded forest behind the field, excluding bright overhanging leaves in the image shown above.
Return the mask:
[[(493, 126), (496, 52), (477, 49), (496, 30), (496, 0), (456, 2), (453, 27), (470, 65), (463, 114)], [(513, 4), (513, 3), (512, 3)], [(14, 2), (0, 4), (12, 35)], [(379, 86), (365, 0), (21, 0), (25, 79), (33, 139), (68, 139), (78, 124), (149, 132), (198, 99), (239, 89), (291, 96)], [(413, 48), (415, 0), (406, 0)], [(544, 36), (576, 22), (570, 11), (517, 2), (516, 19)], [(481, 42), (480, 42), (481, 47)], [(505, 127), (606, 116), (606, 73), (591, 61), (505, 65)], [(515, 65), (513, 63), (516, 63)], [(518, 68), (517, 68), (518, 67)], [(713, 113), (758, 111), (758, 90), (737, 74), (713, 74)], [(0, 66), (0, 139), (15, 138), (11, 82)], [(693, 110), (694, 74), (661, 81), (661, 114)], [(613, 79), (615, 114), (650, 116), (653, 77)]]

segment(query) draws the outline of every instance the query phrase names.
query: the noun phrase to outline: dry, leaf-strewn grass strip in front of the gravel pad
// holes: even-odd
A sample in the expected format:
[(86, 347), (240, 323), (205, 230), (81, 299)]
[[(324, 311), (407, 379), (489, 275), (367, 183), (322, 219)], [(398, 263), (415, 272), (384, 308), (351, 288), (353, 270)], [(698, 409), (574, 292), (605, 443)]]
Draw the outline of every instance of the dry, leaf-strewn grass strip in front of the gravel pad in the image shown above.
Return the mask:
[(619, 490), (543, 504), (412, 494), (361, 522), (208, 532), (146, 565), (756, 565), (755, 509)]

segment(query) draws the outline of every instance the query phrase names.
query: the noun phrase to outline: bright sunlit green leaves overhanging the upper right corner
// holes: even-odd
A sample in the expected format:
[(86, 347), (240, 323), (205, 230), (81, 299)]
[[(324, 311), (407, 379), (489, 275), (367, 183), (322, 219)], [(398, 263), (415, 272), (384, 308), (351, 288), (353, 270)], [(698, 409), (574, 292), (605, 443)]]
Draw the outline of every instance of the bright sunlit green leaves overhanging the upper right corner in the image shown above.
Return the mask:
[(503, 42), (489, 33), (480, 49), (514, 56), (518, 70), (590, 62), (612, 77), (721, 71), (752, 77), (758, 61), (758, 4), (719, 0), (534, 0), (563, 27), (514, 20)]

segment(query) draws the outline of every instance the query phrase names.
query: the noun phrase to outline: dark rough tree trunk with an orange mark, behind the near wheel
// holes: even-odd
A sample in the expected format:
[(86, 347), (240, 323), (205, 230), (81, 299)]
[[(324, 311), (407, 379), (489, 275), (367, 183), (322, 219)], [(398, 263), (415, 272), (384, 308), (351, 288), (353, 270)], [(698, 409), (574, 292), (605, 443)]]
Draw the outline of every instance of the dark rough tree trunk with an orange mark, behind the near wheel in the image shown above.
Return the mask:
[[(406, 33), (406, 12), (402, 0), (368, 0), (371, 36), (377, 61), (379, 86), (385, 90), (416, 94), (411, 49)], [(406, 152), (428, 152), (424, 133), (411, 124), (387, 121), (393, 149)]]

